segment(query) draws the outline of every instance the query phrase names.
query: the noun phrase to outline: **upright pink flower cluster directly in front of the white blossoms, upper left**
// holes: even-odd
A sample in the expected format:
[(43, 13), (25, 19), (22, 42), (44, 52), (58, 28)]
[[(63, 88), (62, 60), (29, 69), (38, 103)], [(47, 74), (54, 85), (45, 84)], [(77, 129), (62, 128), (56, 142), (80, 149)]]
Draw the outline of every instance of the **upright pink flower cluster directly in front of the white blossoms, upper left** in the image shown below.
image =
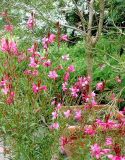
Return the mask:
[(36, 20), (34, 18), (34, 14), (32, 13), (32, 15), (29, 17), (28, 21), (27, 21), (27, 28), (28, 29), (33, 29), (36, 25)]

